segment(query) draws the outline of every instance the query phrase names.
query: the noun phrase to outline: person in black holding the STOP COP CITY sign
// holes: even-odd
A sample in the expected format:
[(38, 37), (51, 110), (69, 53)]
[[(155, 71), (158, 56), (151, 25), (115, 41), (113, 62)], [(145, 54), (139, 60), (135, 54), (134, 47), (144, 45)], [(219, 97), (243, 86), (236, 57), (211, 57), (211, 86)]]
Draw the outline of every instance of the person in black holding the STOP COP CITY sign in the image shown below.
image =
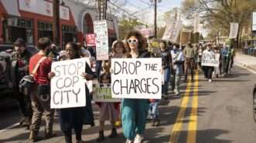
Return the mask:
[[(76, 43), (69, 42), (66, 45), (67, 59), (75, 59), (80, 58), (80, 48), (78, 48)], [(94, 78), (93, 72), (90, 70), (89, 65), (86, 65), (85, 73), (82, 75), (84, 78), (88, 80), (92, 80)], [(87, 88), (87, 85), (85, 85)], [(87, 94), (88, 89), (86, 90)], [(88, 99), (88, 98), (87, 98)], [(90, 105), (89, 105), (90, 106)], [(67, 143), (72, 142), (72, 128), (74, 128), (76, 134), (77, 143), (82, 143), (82, 129), (85, 118), (84, 107), (78, 108), (61, 108), (60, 109), (60, 129), (63, 131), (65, 136), (65, 141)]]

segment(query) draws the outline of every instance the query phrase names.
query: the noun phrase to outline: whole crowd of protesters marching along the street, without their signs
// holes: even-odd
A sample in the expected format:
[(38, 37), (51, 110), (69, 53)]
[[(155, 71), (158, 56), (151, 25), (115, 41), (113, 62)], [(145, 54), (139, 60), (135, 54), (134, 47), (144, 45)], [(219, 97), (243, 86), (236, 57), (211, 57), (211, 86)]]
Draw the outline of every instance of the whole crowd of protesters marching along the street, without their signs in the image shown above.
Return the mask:
[[(26, 50), (26, 43), (18, 38), (14, 45), (12, 65), (15, 70), (15, 92), (19, 101), (19, 107), (23, 118), (21, 125), (29, 129), (29, 139), (39, 141), (39, 128), (42, 116), (46, 117), (45, 138), (53, 138), (56, 134), (53, 131), (54, 110), (50, 108), (50, 79), (55, 76), (51, 72), (51, 64), (56, 61), (65, 61), (75, 58), (90, 58), (84, 74), (81, 75), (87, 80), (98, 79), (101, 84), (111, 83), (111, 60), (97, 62), (94, 48), (87, 48), (80, 43), (69, 42), (63, 51), (58, 51), (56, 45), (51, 44), (48, 38), (40, 38), (36, 55), (30, 55)], [(219, 67), (202, 66), (204, 53), (220, 54)], [(159, 42), (159, 50), (150, 50), (147, 47), (145, 38), (140, 32), (131, 31), (124, 41), (116, 41), (112, 44), (110, 58), (162, 58), (162, 98), (168, 100), (169, 95), (180, 95), (180, 82), (184, 76), (184, 82), (194, 80), (194, 71), (203, 71), (207, 81), (212, 82), (212, 75), (227, 76), (233, 67), (235, 51), (230, 45), (211, 45), (188, 43), (179, 45), (176, 43)], [(36, 70), (35, 70), (36, 69)], [(36, 85), (28, 93), (19, 90), (19, 80), (24, 75), (32, 74)], [(172, 93), (169, 93), (171, 85)], [(84, 88), (88, 88), (85, 85)], [(63, 132), (65, 141), (72, 142), (72, 129), (74, 129), (77, 143), (83, 142), (83, 125), (94, 126), (94, 113), (92, 109), (92, 93), (86, 90), (86, 107), (63, 108), (57, 111), (60, 121), (60, 129)], [(110, 138), (118, 136), (117, 121), (121, 118), (121, 124), (127, 143), (142, 142), (145, 132), (146, 119), (148, 114), (152, 118), (152, 126), (160, 125), (159, 103), (157, 99), (130, 99), (124, 98), (121, 103), (99, 102), (99, 136), (97, 141), (104, 141), (104, 122), (111, 122)], [(121, 108), (121, 110), (120, 110)]]

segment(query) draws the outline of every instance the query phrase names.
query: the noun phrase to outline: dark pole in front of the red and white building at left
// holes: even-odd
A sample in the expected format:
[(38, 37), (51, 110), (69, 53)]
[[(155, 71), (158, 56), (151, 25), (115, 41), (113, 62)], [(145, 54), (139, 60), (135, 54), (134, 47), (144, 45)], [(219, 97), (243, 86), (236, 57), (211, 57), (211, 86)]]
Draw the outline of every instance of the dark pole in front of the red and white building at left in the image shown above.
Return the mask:
[(53, 42), (60, 45), (60, 0), (53, 1)]

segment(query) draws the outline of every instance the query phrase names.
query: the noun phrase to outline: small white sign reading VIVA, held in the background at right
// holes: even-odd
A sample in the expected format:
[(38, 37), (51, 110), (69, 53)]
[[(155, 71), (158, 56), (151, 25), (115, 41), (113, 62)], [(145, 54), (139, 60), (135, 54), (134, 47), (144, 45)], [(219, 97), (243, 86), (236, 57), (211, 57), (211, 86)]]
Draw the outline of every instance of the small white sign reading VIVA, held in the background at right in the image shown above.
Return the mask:
[(202, 65), (219, 67), (220, 65), (220, 54), (214, 52), (203, 52)]

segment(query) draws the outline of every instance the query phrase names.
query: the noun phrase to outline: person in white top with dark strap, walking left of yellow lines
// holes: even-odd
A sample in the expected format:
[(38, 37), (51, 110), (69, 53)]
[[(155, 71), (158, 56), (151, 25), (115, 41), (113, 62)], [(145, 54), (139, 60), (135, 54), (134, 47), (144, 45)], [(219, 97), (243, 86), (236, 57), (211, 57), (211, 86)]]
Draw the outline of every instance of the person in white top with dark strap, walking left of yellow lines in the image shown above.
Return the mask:
[(179, 50), (179, 45), (173, 45), (172, 51), (172, 69), (173, 69), (173, 83), (175, 87), (175, 95), (179, 95), (179, 81), (183, 75), (183, 63), (185, 62), (185, 56), (182, 50)]

